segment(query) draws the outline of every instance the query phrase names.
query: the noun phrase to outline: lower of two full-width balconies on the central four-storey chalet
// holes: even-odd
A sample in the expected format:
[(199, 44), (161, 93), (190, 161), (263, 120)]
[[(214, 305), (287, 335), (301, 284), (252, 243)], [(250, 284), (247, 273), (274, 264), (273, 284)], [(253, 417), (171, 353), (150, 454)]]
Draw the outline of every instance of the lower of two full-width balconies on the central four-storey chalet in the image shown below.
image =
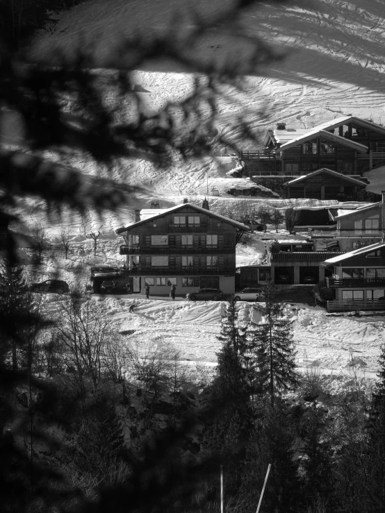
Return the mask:
[(124, 276), (207, 276), (207, 275), (224, 275), (233, 276), (236, 273), (234, 266), (218, 266), (206, 265), (204, 267), (195, 266), (154, 266), (154, 267), (132, 267), (131, 269), (124, 269)]

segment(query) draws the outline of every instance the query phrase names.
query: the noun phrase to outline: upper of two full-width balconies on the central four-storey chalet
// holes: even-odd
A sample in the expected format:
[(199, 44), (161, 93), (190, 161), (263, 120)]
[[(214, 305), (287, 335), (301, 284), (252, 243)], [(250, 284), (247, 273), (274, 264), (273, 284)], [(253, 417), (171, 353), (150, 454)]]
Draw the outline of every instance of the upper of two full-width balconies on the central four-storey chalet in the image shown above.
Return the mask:
[(198, 246), (183, 244), (181, 246), (120, 246), (120, 255), (196, 255), (206, 253), (234, 253), (235, 244), (218, 244)]

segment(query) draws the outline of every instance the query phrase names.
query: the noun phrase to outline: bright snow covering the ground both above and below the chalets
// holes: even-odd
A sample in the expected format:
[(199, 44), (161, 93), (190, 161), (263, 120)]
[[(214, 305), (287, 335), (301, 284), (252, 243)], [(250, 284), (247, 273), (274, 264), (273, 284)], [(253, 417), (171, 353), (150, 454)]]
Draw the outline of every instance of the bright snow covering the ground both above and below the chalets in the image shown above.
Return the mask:
[[(165, 31), (178, 9), (181, 24), (188, 26), (188, 9), (196, 8), (202, 17), (212, 15), (229, 4), (229, 0), (90, 0), (58, 16), (51, 33), (41, 33), (31, 54), (44, 57), (57, 47), (71, 53), (76, 44), (94, 44), (97, 65), (103, 67), (110, 49), (122, 34)], [(183, 17), (184, 16), (184, 17)], [(277, 121), (288, 127), (312, 128), (324, 121), (354, 115), (385, 123), (385, 9), (378, 0), (318, 0), (270, 5), (268, 2), (250, 8), (243, 19), (244, 30), (258, 34), (279, 51), (288, 51), (285, 60), (274, 62), (255, 76), (245, 77), (241, 94), (228, 87), (226, 99), (218, 99), (218, 130), (236, 139), (234, 119), (243, 112), (256, 133), (275, 128)], [(213, 35), (199, 47), (202, 58), (220, 61), (232, 58), (238, 62), (247, 47), (241, 42), (222, 40)], [(116, 66), (120, 64), (114, 56)], [(124, 62), (123, 62), (124, 64)], [(147, 66), (134, 74), (135, 81), (148, 92), (140, 93), (147, 112), (154, 112), (169, 100), (183, 99), (191, 89), (193, 75), (177, 69), (172, 62), (157, 67)], [(107, 96), (113, 101), (113, 94)], [(129, 110), (129, 104), (126, 106)], [(253, 149), (244, 147), (244, 149)], [(68, 164), (85, 174), (95, 172), (95, 163), (87, 158)], [(206, 158), (159, 171), (144, 160), (120, 162), (114, 177), (142, 190), (133, 194), (131, 203), (116, 215), (97, 219), (92, 212), (85, 223), (112, 237), (115, 228), (133, 221), (134, 208), (148, 207), (153, 199), (163, 208), (181, 203), (183, 197), (201, 200), (208, 190), (217, 188), (220, 197), (208, 194), (211, 205), (240, 201), (227, 195), (224, 181), (238, 183), (226, 171), (218, 170), (215, 160)], [(372, 171), (370, 190), (385, 189), (385, 168)], [(377, 190), (377, 188), (379, 190)], [(270, 204), (319, 207), (341, 205), (338, 202), (312, 200), (286, 201), (253, 198), (245, 200), (255, 206)], [(341, 205), (342, 206), (342, 205)], [(36, 210), (34, 210), (36, 212)], [(38, 214), (35, 213), (35, 216)], [(83, 221), (76, 216), (67, 219), (74, 235), (82, 230)], [(57, 228), (51, 228), (54, 235)], [(271, 236), (274, 231), (270, 233)], [(280, 234), (283, 235), (282, 233)], [(237, 263), (258, 262), (263, 251), (261, 237), (253, 235), (249, 246), (240, 245)], [(113, 260), (112, 253), (105, 253)], [(64, 266), (65, 267), (65, 266)], [(67, 266), (68, 267), (68, 266)], [(102, 301), (120, 330), (136, 330), (138, 339), (163, 337), (180, 350), (183, 358), (215, 362), (220, 343), (215, 338), (220, 330), (220, 303), (186, 303), (145, 301), (138, 298), (136, 313), (129, 314), (130, 299), (92, 298)], [(250, 305), (240, 305), (240, 315), (249, 316)], [(299, 308), (299, 310), (293, 310)], [(341, 373), (350, 355), (360, 358), (362, 368), (375, 372), (379, 346), (384, 342), (384, 317), (327, 317), (325, 310), (304, 305), (288, 307), (294, 323), (295, 342), (300, 364), (314, 364)], [(353, 351), (353, 352), (352, 352)], [(304, 359), (309, 362), (304, 362)], [(301, 360), (302, 359), (302, 360)]]

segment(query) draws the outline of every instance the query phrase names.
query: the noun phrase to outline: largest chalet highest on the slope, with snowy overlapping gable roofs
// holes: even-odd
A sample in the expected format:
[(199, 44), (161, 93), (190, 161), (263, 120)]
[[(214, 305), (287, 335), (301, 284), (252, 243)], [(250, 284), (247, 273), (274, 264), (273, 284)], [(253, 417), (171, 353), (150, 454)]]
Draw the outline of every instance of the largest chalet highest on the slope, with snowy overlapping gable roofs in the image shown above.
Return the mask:
[(279, 124), (266, 134), (261, 151), (241, 151), (252, 176), (302, 176), (321, 168), (357, 175), (385, 162), (385, 128), (354, 116), (315, 128)]

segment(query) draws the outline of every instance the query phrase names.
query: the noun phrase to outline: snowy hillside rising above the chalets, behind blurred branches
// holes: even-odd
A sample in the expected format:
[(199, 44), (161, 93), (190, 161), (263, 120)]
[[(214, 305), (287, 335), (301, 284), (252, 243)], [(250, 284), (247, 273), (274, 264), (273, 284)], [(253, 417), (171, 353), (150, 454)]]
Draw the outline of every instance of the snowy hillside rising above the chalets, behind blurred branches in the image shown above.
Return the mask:
[[(132, 33), (133, 28), (150, 36), (151, 31), (167, 28), (176, 8), (182, 19), (183, 12), (192, 6), (209, 16), (227, 3), (229, 0), (90, 0), (63, 12), (54, 31), (36, 38), (32, 53), (44, 56), (53, 47), (70, 53), (79, 42), (93, 42), (102, 65), (119, 36)], [(263, 76), (246, 77), (243, 94), (228, 88), (227, 99), (220, 101), (218, 129), (236, 137), (234, 119), (241, 110), (260, 133), (275, 127), (277, 121), (286, 121), (294, 128), (311, 128), (350, 114), (385, 123), (384, 17), (385, 9), (377, 0), (263, 3), (261, 8), (250, 8), (243, 22), (245, 31), (287, 50), (288, 57), (261, 70)], [(230, 56), (238, 60), (245, 48), (241, 42), (234, 47), (233, 41), (219, 41), (213, 35), (200, 51), (207, 59)], [(181, 99), (190, 90), (192, 76), (165, 62), (161, 71), (138, 71), (136, 81), (148, 91), (142, 97), (151, 111), (168, 99)], [(71, 163), (92, 172), (91, 162)], [(117, 170), (115, 177), (142, 185), (144, 191), (137, 195), (140, 202), (206, 194), (207, 173), (210, 189), (215, 178), (231, 180), (211, 159), (181, 163), (164, 171), (144, 161), (122, 164), (125, 171)]]

